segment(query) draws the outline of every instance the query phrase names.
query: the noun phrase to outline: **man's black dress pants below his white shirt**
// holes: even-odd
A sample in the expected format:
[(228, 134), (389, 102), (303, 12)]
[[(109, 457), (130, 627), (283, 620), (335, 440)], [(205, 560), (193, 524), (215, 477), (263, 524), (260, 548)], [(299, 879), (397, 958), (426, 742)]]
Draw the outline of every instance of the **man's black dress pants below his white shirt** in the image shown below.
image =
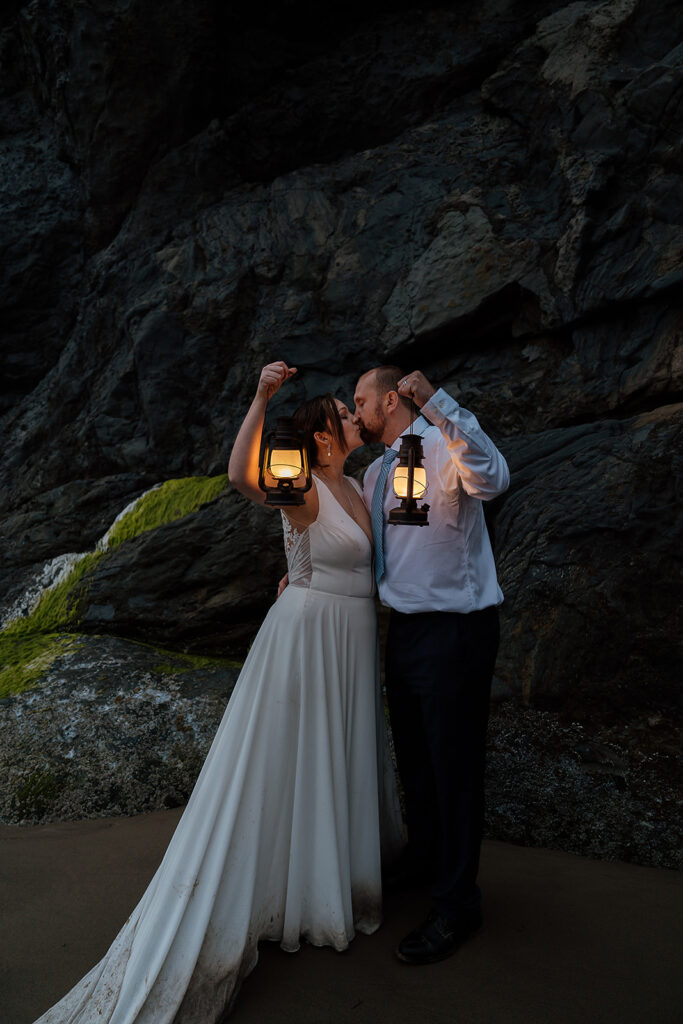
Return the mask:
[(409, 853), (434, 877), (437, 912), (476, 910), (498, 609), (391, 612), (386, 689)]

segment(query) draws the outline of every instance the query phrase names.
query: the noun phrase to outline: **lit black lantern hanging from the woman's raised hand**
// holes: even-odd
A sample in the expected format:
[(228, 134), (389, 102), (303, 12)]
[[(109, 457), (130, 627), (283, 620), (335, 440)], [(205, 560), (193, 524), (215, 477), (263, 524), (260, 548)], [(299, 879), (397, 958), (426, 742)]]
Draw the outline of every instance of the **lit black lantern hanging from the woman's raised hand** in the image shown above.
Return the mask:
[(289, 416), (281, 417), (263, 437), (258, 485), (265, 490), (265, 504), (278, 508), (303, 505), (304, 492), (310, 489), (308, 452)]

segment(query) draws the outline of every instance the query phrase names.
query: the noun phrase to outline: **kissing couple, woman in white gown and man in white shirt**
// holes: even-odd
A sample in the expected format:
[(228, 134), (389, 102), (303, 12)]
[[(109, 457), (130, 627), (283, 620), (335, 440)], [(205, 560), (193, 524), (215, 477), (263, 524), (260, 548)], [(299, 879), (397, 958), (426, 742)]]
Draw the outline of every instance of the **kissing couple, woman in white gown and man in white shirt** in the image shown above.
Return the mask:
[[(267, 403), (295, 373), (282, 360), (263, 368), (230, 456), (231, 483), (261, 505)], [(288, 584), (144, 895), (40, 1024), (214, 1024), (255, 967), (259, 941), (341, 950), (355, 931), (376, 931), (383, 880), (431, 887), (425, 921), (395, 950), (405, 964), (450, 956), (481, 923), (484, 745), (503, 600), (482, 502), (507, 488), (507, 464), (476, 418), (420, 371), (375, 368), (357, 382), (353, 413), (322, 395), (295, 424), (313, 485), (303, 505), (281, 512)], [(424, 451), (426, 529), (387, 523), (392, 463), (409, 430)], [(373, 441), (386, 451), (360, 486), (344, 462)], [(407, 845), (376, 592), (391, 609), (385, 682)]]

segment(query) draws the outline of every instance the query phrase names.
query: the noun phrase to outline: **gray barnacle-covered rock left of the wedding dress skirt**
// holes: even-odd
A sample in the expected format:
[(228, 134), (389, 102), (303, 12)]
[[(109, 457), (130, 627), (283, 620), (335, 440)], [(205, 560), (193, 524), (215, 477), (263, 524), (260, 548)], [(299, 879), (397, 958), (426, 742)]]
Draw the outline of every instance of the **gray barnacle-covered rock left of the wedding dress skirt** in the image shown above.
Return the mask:
[(82, 637), (41, 686), (0, 701), (0, 820), (136, 814), (184, 803), (238, 671)]

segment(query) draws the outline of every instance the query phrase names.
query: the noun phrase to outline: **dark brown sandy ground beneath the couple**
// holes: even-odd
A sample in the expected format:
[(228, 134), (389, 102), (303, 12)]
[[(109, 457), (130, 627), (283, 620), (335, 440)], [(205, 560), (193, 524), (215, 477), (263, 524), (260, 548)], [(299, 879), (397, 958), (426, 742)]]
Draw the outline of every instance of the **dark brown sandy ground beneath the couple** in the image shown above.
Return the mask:
[[(0, 827), (0, 1024), (32, 1024), (105, 952), (180, 811)], [(409, 967), (428, 893), (390, 894), (344, 953), (265, 944), (234, 1024), (679, 1024), (683, 881), (674, 871), (485, 843), (484, 927)]]

